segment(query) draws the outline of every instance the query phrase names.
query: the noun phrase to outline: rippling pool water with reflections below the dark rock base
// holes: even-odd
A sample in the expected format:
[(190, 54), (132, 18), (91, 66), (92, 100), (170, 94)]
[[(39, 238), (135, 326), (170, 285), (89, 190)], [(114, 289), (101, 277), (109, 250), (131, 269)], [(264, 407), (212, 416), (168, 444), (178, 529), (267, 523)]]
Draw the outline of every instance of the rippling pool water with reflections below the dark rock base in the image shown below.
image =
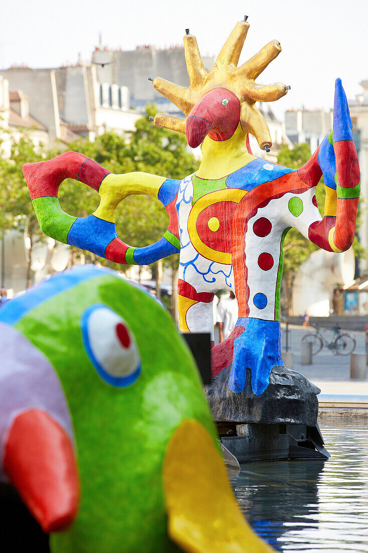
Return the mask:
[(319, 426), (328, 461), (244, 463), (232, 479), (236, 498), (277, 551), (368, 552), (368, 422)]

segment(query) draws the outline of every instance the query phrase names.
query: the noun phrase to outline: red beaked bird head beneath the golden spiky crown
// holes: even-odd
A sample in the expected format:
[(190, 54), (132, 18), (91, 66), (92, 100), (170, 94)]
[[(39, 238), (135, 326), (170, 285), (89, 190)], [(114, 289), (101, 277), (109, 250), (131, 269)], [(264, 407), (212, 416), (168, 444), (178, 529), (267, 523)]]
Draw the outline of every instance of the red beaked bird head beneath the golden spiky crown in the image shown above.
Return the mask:
[(186, 122), (191, 148), (202, 144), (207, 134), (212, 140), (228, 140), (238, 127), (240, 101), (227, 88), (214, 88), (193, 106)]

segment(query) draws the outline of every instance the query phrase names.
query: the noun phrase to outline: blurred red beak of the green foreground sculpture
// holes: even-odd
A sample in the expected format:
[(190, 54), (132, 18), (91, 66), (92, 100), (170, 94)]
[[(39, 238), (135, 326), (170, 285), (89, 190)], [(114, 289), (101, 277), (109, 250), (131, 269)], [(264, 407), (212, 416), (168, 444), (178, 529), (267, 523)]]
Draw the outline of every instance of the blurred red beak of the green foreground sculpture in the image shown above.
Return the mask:
[(3, 467), (44, 532), (71, 525), (79, 499), (75, 455), (70, 437), (48, 413), (29, 409), (13, 420)]

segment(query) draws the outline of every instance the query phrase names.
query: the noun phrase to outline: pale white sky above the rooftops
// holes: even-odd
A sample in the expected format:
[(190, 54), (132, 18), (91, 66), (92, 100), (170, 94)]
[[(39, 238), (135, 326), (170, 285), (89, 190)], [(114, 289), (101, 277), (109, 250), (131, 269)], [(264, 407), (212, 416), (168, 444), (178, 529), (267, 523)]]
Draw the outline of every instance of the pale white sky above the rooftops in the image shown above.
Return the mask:
[[(1, 5), (2, 4), (2, 5)], [(90, 61), (102, 35), (109, 48), (182, 44), (185, 29), (203, 54), (217, 55), (236, 21), (248, 15), (250, 29), (240, 63), (270, 40), (282, 52), (258, 77), (260, 84), (291, 85), (272, 104), (286, 109), (333, 106), (334, 81), (341, 77), (348, 98), (368, 79), (368, 0), (2, 0), (0, 68), (27, 64)]]

